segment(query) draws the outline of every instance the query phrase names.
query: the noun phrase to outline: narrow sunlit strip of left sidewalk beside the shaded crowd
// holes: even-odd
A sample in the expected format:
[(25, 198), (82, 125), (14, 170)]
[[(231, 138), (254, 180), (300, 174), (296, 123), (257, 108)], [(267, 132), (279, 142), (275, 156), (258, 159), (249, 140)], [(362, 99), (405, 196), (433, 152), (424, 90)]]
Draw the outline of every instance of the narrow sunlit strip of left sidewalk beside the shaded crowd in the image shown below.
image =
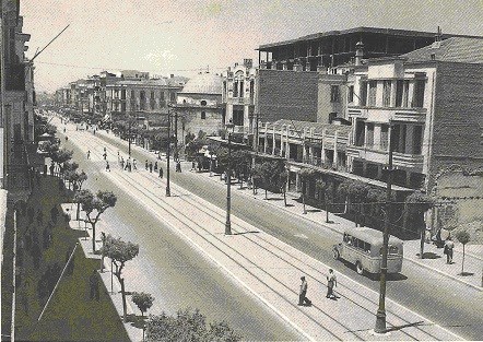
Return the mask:
[[(85, 258), (89, 259), (96, 259), (99, 261), (99, 268), (101, 268), (101, 256), (94, 255), (92, 252), (92, 228), (90, 227), (90, 224), (85, 225), (85, 213), (83, 211), (80, 212), (79, 221), (75, 220), (75, 213), (76, 213), (76, 204), (75, 203), (62, 203), (61, 204), (62, 212), (71, 217), (71, 221), (69, 222), (69, 226), (71, 229), (75, 231), (82, 231), (89, 233), (89, 238), (81, 237), (79, 238), (79, 244), (82, 247), (82, 250), (84, 251)], [(104, 231), (104, 222), (101, 220), (98, 221), (96, 225), (96, 232), (97, 235), (101, 235), (101, 232)], [(102, 247), (102, 240), (96, 239), (96, 250), (98, 250)], [(104, 285), (106, 290), (110, 294), (110, 299), (113, 300), (113, 305), (115, 306), (117, 312), (119, 314), (119, 319), (122, 320), (122, 296), (119, 293), (120, 292), (120, 284), (116, 276), (113, 278), (111, 283), (111, 276), (110, 276), (110, 269), (106, 268), (106, 264), (109, 262), (108, 258), (105, 258), (104, 260), (104, 272), (99, 272), (99, 276), (102, 281), (104, 282)], [(113, 288), (113, 292), (110, 291)], [(127, 314), (136, 314), (133, 310), (131, 303), (129, 300), (129, 297), (126, 298), (127, 302)], [(131, 341), (142, 341), (142, 330), (133, 327), (130, 322), (123, 323), (126, 331), (128, 332), (128, 335)]]

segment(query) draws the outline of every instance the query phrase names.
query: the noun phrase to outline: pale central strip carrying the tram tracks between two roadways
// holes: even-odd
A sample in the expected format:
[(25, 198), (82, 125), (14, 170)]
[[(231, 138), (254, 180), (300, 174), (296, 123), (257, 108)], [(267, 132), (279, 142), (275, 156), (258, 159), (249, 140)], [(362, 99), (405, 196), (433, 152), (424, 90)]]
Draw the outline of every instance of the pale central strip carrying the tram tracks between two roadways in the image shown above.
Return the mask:
[[(109, 155), (114, 156), (114, 151)], [(92, 158), (101, 160), (101, 153), (92, 152)], [(328, 299), (325, 297), (328, 267), (322, 262), (236, 216), (232, 217), (234, 234), (224, 235), (224, 210), (175, 184), (172, 184), (173, 197), (166, 198), (156, 190), (160, 180), (155, 174), (127, 173), (116, 167), (105, 175), (229, 275), (240, 290), (269, 306), (307, 340), (461, 339), (390, 299), (386, 309), (388, 328), (392, 331), (388, 335), (374, 335), (370, 330), (375, 325), (377, 292), (340, 274), (338, 299)], [(313, 303), (307, 307), (297, 306), (302, 274), (307, 276)]]

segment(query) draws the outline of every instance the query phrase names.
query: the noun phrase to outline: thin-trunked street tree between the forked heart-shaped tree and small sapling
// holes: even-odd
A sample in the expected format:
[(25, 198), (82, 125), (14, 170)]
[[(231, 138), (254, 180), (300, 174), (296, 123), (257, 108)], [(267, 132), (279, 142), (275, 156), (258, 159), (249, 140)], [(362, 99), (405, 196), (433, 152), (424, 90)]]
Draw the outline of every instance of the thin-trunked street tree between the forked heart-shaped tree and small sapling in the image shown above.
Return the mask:
[(122, 241), (120, 238), (114, 238), (110, 234), (107, 235), (106, 241), (101, 249), (103, 256), (106, 256), (113, 260), (115, 266), (114, 274), (121, 285), (122, 295), (122, 314), (123, 321), (127, 319), (127, 304), (126, 304), (126, 284), (122, 278), (122, 270), (126, 262), (134, 259), (139, 253), (139, 245), (132, 243)]

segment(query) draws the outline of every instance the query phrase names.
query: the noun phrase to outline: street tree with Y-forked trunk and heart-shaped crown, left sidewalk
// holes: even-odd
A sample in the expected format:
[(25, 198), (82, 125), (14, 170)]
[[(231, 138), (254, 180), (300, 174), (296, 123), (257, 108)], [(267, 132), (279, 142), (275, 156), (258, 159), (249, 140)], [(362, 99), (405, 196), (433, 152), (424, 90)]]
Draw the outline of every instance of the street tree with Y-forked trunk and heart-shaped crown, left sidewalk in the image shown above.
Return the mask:
[(92, 251), (95, 252), (95, 226), (99, 221), (102, 213), (106, 209), (116, 205), (117, 197), (110, 191), (97, 191), (94, 196), (91, 190), (82, 190), (82, 196), (78, 197), (82, 205), (82, 210), (85, 211), (87, 222), (92, 226)]

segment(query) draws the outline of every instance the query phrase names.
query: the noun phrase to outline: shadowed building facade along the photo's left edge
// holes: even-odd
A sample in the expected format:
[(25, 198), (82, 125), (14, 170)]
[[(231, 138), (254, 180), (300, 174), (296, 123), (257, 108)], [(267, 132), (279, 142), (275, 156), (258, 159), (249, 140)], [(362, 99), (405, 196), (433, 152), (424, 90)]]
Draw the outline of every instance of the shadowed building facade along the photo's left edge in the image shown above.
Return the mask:
[[(28, 155), (34, 142), (34, 67), (25, 58), (31, 35), (22, 32), (20, 2), (1, 2), (1, 164), (0, 178), (9, 190), (30, 189)], [(32, 149), (31, 149), (32, 148)]]

